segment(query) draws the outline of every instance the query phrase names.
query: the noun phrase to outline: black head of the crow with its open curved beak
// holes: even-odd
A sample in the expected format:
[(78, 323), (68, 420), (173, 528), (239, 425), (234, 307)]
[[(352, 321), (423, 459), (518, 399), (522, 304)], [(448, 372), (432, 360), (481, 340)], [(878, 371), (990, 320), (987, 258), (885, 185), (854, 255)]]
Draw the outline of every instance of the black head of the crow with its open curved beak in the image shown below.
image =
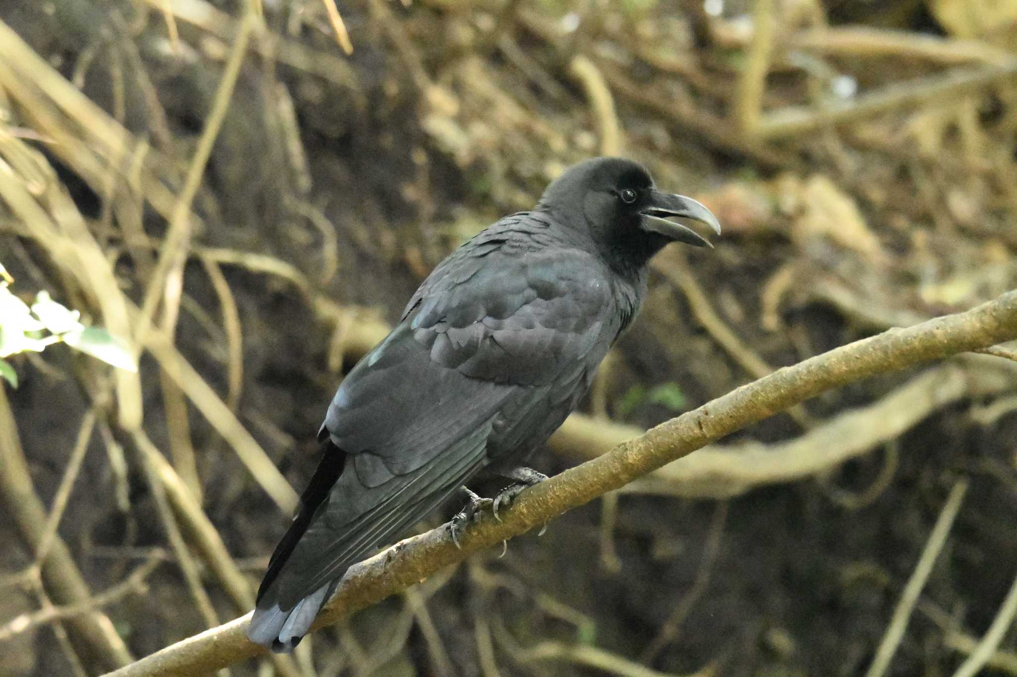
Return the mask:
[(643, 165), (620, 157), (597, 157), (569, 168), (547, 187), (537, 208), (564, 225), (589, 228), (609, 259), (638, 265), (671, 242), (712, 247), (667, 217), (691, 218), (720, 234), (720, 223), (709, 209), (692, 198), (656, 190)]

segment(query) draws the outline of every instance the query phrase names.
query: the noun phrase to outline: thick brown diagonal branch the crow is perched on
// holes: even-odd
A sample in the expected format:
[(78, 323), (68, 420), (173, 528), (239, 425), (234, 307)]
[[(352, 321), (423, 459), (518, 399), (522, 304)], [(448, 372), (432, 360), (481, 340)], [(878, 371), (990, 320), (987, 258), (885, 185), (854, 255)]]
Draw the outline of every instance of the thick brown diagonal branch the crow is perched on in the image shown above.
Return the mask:
[[(355, 565), (316, 627), (335, 623), (462, 561), (472, 552), (543, 525), (570, 509), (826, 390), (1015, 338), (1017, 291), (1011, 291), (966, 313), (907, 329), (891, 329), (779, 369), (527, 489), (511, 510), (501, 514), (501, 522), (485, 515), (469, 528), (462, 550), (456, 549), (444, 529), (435, 529)], [(205, 674), (254, 656), (261, 650), (244, 635), (247, 622), (247, 616), (235, 619), (112, 674)]]

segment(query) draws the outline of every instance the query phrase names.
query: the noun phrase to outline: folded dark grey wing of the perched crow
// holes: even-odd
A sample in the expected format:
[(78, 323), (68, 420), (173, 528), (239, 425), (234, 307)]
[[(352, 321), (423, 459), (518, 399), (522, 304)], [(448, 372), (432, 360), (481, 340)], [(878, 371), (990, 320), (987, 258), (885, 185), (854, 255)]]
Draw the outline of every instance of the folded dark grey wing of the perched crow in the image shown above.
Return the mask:
[(290, 608), (418, 521), (486, 464), (506, 402), (550, 406), (556, 384), (575, 389), (599, 362), (620, 322), (602, 264), (532, 234), (492, 228), (461, 249), (343, 382), (319, 437), (345, 468), (267, 602)]

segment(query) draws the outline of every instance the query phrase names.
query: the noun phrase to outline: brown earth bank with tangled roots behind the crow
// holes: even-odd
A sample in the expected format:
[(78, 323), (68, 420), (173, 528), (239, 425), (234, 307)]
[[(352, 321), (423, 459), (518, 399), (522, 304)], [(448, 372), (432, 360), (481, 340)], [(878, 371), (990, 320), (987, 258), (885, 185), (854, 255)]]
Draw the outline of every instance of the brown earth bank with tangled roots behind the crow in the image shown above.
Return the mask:
[[(15, 58), (0, 36), (0, 146), (40, 152), (138, 306), (177, 242), (169, 279), (181, 293), (162, 299), (158, 322), (175, 326), (176, 349), (294, 487), (316, 464), (343, 370), (431, 267), (592, 155), (644, 162), (724, 224), (714, 251), (654, 264), (643, 314), (582, 407), (604, 425), (652, 426), (1017, 286), (1017, 2), (353, 0), (338, 7), (350, 55), (320, 0), (257, 6), (265, 27), (239, 55), (198, 175), (200, 220), (182, 235), (169, 225), (175, 196), (221, 105), (245, 2), (0, 2), (41, 57)], [(0, 155), (18, 174), (10, 147)], [(47, 200), (56, 221), (66, 215)], [(13, 290), (49, 289), (109, 324), (102, 294), (0, 205)], [(118, 422), (121, 400), (110, 403), (120, 386), (109, 369), (66, 346), (10, 361), (20, 383), (7, 398), (47, 510), (97, 412), (58, 533), (94, 593), (146, 567), (103, 606), (127, 650), (144, 656), (208, 627), (143, 450)], [(298, 665), (320, 677), (863, 675), (954, 499), (884, 673), (953, 674), (1017, 574), (1010, 366), (966, 355), (828, 393), (715, 450), (759, 463), (752, 482), (637, 482), (314, 634)], [(142, 429), (256, 585), (288, 517), (213, 422), (220, 414), (166, 368), (142, 353)], [(851, 412), (862, 413), (828, 447), (787, 444)], [(793, 476), (764, 472), (821, 452), (830, 460)], [(595, 453), (563, 439), (535, 465), (550, 474)], [(99, 674), (102, 656), (72, 623), (15, 627), (72, 600), (26, 568), (32, 528), (9, 512), (0, 674)], [(192, 554), (215, 620), (246, 612)], [(262, 663), (231, 674), (267, 674)], [(979, 674), (1017, 675), (1017, 629)]]

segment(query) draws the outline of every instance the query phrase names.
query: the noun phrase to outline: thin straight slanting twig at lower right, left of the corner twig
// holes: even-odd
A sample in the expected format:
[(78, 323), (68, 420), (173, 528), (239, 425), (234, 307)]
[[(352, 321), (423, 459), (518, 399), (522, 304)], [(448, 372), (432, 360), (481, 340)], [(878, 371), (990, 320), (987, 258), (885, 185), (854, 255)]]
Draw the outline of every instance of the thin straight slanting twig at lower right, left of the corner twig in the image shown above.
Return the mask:
[(882, 677), (887, 668), (890, 667), (890, 662), (893, 660), (893, 656), (897, 652), (897, 647), (904, 636), (907, 621), (911, 617), (911, 610), (914, 609), (914, 604), (918, 601), (921, 589), (925, 587), (929, 574), (933, 572), (933, 565), (936, 563), (936, 558), (939, 556), (940, 551), (943, 550), (943, 546), (947, 542), (947, 536), (950, 535), (950, 529), (953, 527), (954, 519), (956, 519), (957, 513), (960, 512), (960, 505), (964, 500), (964, 494), (967, 492), (967, 486), (968, 482), (966, 479), (959, 479), (954, 483), (953, 488), (950, 489), (950, 495), (947, 496), (947, 501), (940, 512), (940, 517), (936, 521), (936, 526), (933, 527), (933, 533), (929, 536), (929, 541), (921, 551), (921, 556), (918, 558), (918, 563), (915, 565), (911, 578), (907, 580), (907, 585), (904, 586), (904, 592), (897, 602), (897, 607), (894, 609), (890, 624), (883, 635), (883, 640), (880, 641), (880, 648), (876, 651), (876, 658), (873, 659), (873, 664), (869, 667), (865, 677)]

